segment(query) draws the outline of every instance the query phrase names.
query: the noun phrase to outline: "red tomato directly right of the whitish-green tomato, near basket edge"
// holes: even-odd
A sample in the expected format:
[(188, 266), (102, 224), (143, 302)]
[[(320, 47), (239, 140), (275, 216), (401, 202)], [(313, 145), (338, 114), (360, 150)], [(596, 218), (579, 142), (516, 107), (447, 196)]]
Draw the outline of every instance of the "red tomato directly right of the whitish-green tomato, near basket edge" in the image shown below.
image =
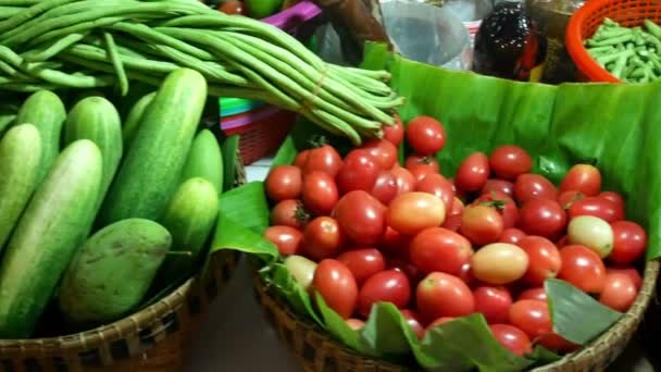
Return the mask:
[(608, 259), (611, 262), (627, 264), (645, 255), (647, 233), (639, 224), (631, 221), (616, 221), (613, 228), (613, 250)]

